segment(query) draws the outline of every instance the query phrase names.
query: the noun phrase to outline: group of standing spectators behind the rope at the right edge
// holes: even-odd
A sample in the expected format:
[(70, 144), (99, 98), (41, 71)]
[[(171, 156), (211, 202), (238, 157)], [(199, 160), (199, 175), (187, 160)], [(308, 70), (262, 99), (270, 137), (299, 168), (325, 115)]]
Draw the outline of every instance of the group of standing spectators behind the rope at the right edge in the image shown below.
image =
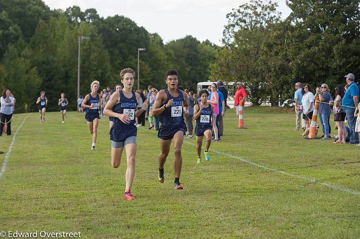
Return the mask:
[[(334, 97), (327, 84), (322, 83), (316, 87), (315, 94), (309, 84), (295, 83), (295, 129), (305, 130), (310, 127), (314, 104), (318, 101), (319, 120), (322, 126), (321, 140), (334, 138), (334, 144), (348, 143), (359, 144), (358, 132), (360, 132), (360, 104), (359, 88), (354, 82), (355, 76), (348, 73), (344, 76), (345, 86), (336, 85), (334, 88)], [(331, 136), (330, 115), (333, 113), (333, 121), (337, 135)], [(345, 126), (347, 121), (348, 126)]]

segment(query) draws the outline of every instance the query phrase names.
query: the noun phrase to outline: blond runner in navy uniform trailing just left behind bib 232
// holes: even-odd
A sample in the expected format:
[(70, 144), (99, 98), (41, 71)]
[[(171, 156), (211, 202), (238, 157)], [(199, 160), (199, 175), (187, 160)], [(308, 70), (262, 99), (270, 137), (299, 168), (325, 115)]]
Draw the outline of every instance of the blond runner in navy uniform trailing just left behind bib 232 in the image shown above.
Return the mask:
[(87, 128), (89, 133), (92, 134), (91, 150), (95, 150), (96, 137), (97, 137), (97, 125), (99, 116), (99, 108), (101, 106), (101, 97), (97, 93), (100, 83), (94, 80), (90, 84), (91, 92), (87, 94), (82, 101), (81, 106), (85, 109), (85, 119), (87, 121)]

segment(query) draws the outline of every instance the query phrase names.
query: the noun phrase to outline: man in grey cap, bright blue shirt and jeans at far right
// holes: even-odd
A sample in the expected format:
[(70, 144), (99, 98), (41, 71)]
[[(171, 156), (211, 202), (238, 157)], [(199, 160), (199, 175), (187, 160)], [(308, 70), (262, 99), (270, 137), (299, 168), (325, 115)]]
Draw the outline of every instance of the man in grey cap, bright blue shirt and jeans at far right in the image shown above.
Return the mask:
[[(350, 144), (358, 144), (358, 134), (355, 133), (356, 118), (354, 117), (355, 107), (358, 103), (358, 87), (354, 82), (355, 76), (352, 73), (345, 75), (346, 84), (348, 85), (345, 95), (342, 98), (342, 110), (346, 113), (347, 123), (351, 130)], [(353, 107), (353, 108), (350, 108)]]

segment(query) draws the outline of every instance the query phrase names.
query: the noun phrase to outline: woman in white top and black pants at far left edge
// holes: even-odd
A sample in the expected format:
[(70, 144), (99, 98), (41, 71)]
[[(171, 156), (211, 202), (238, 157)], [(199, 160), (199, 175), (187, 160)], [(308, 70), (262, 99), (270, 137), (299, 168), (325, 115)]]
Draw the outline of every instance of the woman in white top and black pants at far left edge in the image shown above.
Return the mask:
[(2, 128), (7, 124), (6, 134), (11, 135), (11, 118), (12, 118), (12, 106), (15, 105), (14, 99), (10, 97), (11, 92), (8, 89), (2, 91), (0, 98), (0, 136), (2, 135)]

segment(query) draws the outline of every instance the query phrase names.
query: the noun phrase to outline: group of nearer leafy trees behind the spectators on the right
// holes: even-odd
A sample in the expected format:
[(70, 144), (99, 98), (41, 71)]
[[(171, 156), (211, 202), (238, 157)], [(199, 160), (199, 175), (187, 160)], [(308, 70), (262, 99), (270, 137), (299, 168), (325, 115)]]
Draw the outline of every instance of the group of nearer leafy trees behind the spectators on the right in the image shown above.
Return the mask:
[(276, 2), (251, 0), (226, 15), (223, 47), (212, 79), (244, 81), (253, 105), (293, 98), (295, 82), (326, 83), (334, 94), (344, 75), (360, 78), (358, 0), (287, 0), (281, 20)]

